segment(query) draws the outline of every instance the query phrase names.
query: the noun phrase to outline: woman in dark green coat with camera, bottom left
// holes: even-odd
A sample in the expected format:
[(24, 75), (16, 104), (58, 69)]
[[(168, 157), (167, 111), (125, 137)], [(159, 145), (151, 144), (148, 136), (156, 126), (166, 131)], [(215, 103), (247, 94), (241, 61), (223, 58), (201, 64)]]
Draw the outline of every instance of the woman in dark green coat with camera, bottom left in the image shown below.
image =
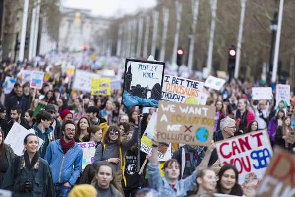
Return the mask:
[(12, 191), (13, 197), (55, 197), (51, 169), (49, 164), (39, 157), (38, 136), (28, 134), (24, 145), (24, 155), (12, 160), (1, 189)]

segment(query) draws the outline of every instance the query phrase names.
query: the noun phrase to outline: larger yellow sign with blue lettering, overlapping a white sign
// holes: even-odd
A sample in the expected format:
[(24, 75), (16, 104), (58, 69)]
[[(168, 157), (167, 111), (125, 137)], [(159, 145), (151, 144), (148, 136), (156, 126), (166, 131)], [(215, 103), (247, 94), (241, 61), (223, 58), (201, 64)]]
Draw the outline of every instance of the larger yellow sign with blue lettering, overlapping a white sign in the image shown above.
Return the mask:
[(91, 79), (91, 95), (111, 95), (110, 78)]

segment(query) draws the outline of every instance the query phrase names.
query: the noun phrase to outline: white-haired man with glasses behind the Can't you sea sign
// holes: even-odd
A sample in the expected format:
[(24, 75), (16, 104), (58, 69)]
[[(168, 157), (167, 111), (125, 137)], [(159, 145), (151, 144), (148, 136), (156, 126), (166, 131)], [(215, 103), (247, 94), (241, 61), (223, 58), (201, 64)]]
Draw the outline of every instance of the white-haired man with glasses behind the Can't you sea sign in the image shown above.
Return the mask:
[[(234, 137), (235, 131), (236, 131), (236, 121), (231, 118), (224, 118), (220, 121), (220, 130), (215, 132), (213, 136), (213, 140), (214, 142), (218, 142), (224, 139)], [(218, 155), (217, 155), (216, 149), (214, 149), (214, 151), (211, 154), (209, 166), (212, 166), (217, 159), (218, 159)]]

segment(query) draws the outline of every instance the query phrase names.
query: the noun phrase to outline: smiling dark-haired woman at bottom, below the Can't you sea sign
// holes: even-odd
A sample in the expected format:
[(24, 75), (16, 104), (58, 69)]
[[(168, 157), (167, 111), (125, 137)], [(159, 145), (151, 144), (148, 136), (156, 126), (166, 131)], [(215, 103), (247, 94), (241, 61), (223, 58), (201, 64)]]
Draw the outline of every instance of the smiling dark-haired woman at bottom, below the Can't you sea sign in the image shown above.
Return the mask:
[(243, 189), (237, 183), (238, 171), (235, 166), (231, 164), (226, 164), (222, 166), (218, 173), (218, 176), (219, 179), (216, 185), (217, 193), (243, 196)]

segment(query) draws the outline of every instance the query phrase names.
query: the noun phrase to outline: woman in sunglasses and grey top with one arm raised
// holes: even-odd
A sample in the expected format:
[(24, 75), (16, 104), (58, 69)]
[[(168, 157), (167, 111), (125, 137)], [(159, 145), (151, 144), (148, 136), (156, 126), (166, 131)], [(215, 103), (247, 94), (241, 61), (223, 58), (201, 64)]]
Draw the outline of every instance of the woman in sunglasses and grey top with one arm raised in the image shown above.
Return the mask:
[(124, 179), (126, 185), (126, 179), (124, 176), (125, 164), (124, 155), (126, 151), (136, 143), (138, 136), (138, 119), (135, 121), (134, 131), (132, 137), (123, 142), (121, 141), (120, 128), (117, 125), (112, 125), (108, 128), (103, 138), (104, 145), (98, 145), (94, 155), (94, 167), (97, 168), (98, 164), (107, 162), (114, 164), (116, 169), (116, 180), (118, 181), (119, 191), (124, 195), (122, 189), (121, 180)]

